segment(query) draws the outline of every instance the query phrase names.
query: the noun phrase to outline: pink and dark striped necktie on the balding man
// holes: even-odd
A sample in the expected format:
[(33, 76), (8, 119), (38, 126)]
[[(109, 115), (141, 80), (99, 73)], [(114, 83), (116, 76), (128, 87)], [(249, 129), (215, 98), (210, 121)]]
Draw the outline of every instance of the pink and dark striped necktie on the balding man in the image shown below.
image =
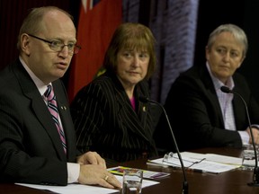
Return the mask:
[(44, 93), (44, 97), (47, 101), (47, 106), (49, 108), (49, 112), (51, 113), (52, 119), (54, 120), (55, 125), (58, 128), (58, 134), (61, 139), (64, 151), (65, 153), (67, 153), (66, 137), (65, 137), (63, 128), (60, 125), (58, 120), (59, 116), (58, 116), (58, 106), (57, 106), (56, 96), (50, 84), (47, 86), (47, 90)]

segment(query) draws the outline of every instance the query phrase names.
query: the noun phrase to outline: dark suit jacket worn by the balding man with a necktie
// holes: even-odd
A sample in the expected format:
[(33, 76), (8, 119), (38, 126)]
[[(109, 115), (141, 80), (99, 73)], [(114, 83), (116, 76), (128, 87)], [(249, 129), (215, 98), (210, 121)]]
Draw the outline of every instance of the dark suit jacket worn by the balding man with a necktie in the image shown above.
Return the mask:
[(76, 134), (64, 85), (59, 80), (52, 84), (67, 156), (48, 107), (21, 62), (0, 73), (1, 181), (67, 184), (67, 162), (76, 160)]

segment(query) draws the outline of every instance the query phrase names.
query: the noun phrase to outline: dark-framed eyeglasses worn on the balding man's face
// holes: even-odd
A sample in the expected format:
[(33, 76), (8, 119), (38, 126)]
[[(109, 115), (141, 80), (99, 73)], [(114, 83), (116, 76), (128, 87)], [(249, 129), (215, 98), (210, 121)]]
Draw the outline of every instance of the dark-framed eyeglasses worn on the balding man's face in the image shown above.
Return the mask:
[(44, 42), (48, 43), (49, 44), (49, 48), (54, 50), (54, 51), (57, 51), (57, 52), (60, 52), (65, 46), (67, 46), (68, 53), (70, 55), (77, 54), (79, 52), (79, 50), (81, 49), (81, 47), (79, 45), (76, 45), (74, 43), (68, 43), (67, 45), (65, 45), (60, 40), (49, 41), (49, 40), (41, 39), (40, 37), (31, 35), (31, 34), (28, 34), (28, 35), (33, 37), (33, 38), (35, 38), (35, 39), (38, 39), (38, 40), (41, 40), (41, 41), (44, 41)]

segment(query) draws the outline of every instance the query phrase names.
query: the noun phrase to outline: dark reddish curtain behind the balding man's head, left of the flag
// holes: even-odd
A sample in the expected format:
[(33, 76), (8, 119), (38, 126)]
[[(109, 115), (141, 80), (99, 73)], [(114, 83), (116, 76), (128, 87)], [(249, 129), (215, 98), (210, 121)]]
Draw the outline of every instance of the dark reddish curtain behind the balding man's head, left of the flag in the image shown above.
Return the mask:
[[(0, 69), (18, 56), (17, 36), (22, 20), (29, 9), (37, 6), (55, 5), (74, 14), (76, 2), (69, 0), (0, 0)], [(75, 18), (76, 19), (76, 18)]]

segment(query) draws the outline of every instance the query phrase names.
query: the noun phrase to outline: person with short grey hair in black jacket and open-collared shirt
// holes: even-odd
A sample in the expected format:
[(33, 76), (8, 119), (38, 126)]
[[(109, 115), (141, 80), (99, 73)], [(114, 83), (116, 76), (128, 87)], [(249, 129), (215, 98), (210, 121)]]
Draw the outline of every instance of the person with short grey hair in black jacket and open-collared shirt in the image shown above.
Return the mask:
[[(243, 30), (233, 24), (220, 25), (212, 31), (206, 47), (207, 63), (192, 66), (172, 84), (165, 101), (175, 139), (181, 151), (206, 146), (241, 148), (252, 142), (246, 107), (239, 96), (223, 93), (221, 86), (240, 93), (246, 101), (255, 143), (259, 144), (257, 125), (259, 106), (245, 77), (237, 73), (246, 57), (247, 39)], [(168, 130), (161, 119), (157, 128), (158, 146), (166, 147), (162, 130)], [(165, 137), (161, 137), (165, 135)], [(162, 140), (162, 141), (161, 141)], [(163, 142), (164, 141), (164, 142)], [(166, 147), (172, 150), (174, 145)]]

